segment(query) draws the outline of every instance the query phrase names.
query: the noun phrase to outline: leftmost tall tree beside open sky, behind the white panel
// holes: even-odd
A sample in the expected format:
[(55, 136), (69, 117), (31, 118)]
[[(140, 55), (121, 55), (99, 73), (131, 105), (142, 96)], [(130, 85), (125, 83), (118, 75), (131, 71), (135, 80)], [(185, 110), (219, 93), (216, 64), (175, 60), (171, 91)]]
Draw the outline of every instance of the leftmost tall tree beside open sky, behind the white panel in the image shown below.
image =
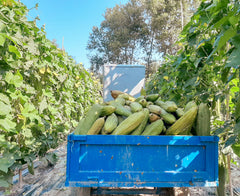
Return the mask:
[(141, 7), (133, 0), (126, 6), (107, 9), (104, 17), (101, 26), (94, 26), (89, 37), (87, 49), (91, 51), (90, 62), (94, 63), (91, 69), (98, 71), (104, 63), (137, 63), (136, 48), (144, 25)]

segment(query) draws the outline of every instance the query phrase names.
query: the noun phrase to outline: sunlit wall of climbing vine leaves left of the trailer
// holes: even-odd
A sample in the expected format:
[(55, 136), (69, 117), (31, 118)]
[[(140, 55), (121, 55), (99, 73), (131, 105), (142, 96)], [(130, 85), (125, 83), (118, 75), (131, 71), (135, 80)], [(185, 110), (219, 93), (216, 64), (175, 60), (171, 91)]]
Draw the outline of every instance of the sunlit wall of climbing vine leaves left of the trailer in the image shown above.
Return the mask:
[(100, 85), (56, 48), (28, 9), (0, 3), (0, 182), (55, 148), (85, 109), (100, 100)]

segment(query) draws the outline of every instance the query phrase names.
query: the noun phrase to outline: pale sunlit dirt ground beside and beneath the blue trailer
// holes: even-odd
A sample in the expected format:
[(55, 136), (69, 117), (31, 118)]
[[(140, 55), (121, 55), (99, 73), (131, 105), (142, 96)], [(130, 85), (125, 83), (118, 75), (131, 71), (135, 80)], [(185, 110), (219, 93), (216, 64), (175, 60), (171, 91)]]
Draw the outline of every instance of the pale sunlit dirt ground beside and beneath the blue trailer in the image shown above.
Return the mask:
[[(24, 174), (22, 187), (19, 187), (18, 176), (15, 176), (15, 184), (8, 191), (0, 190), (0, 195), (8, 196), (75, 196), (76, 188), (65, 187), (66, 173), (66, 144), (55, 150), (59, 159), (56, 165), (48, 166), (46, 162), (38, 162), (35, 175)], [(240, 163), (240, 159), (237, 159)], [(232, 164), (231, 176), (234, 195), (240, 195), (240, 168)], [(174, 196), (207, 196), (217, 195), (216, 188), (174, 188), (172, 194), (162, 195)], [(149, 195), (149, 194), (148, 194)], [(161, 194), (158, 194), (161, 195)], [(227, 195), (230, 195), (229, 193)], [(147, 194), (144, 194), (147, 196)]]

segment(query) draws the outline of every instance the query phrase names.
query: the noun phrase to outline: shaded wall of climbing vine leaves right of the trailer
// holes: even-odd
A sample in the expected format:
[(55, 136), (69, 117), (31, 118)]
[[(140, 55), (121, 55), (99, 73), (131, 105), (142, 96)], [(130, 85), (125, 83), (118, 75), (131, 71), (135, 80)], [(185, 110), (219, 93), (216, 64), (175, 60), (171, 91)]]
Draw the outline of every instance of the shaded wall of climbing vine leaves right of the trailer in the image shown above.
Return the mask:
[(147, 85), (163, 99), (208, 103), (222, 153), (229, 146), (239, 152), (239, 8), (239, 1), (203, 1), (180, 35), (182, 49)]

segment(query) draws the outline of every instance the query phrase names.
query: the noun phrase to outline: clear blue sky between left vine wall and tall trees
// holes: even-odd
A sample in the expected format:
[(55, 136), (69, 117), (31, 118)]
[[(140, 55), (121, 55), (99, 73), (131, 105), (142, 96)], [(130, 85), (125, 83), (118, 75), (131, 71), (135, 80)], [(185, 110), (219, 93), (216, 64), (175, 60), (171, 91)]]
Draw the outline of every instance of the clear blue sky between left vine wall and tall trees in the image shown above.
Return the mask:
[(21, 0), (28, 9), (38, 3), (38, 9), (29, 12), (29, 20), (39, 16), (38, 27), (45, 24), (49, 40), (56, 39), (62, 47), (64, 37), (65, 51), (74, 57), (77, 63), (82, 62), (85, 68), (90, 67), (86, 50), (89, 33), (93, 26), (99, 26), (104, 20), (106, 8), (116, 4), (125, 4), (128, 0)]

